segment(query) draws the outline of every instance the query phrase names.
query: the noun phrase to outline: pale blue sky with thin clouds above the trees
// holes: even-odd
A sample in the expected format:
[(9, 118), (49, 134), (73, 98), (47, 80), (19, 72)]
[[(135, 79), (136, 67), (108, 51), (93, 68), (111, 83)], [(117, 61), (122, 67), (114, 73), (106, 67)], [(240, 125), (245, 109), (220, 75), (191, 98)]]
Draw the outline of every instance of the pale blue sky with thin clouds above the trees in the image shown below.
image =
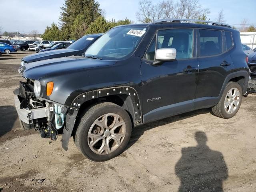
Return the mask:
[[(60, 6), (64, 0), (0, 0), (2, 32), (28, 33), (38, 30), (43, 33), (46, 26), (52, 22), (58, 23)], [(138, 0), (98, 0), (100, 8), (106, 12), (106, 19), (115, 20), (128, 18), (136, 20)], [(152, 0), (158, 3), (159, 0)], [(203, 8), (209, 8), (208, 19), (214, 21), (218, 12), (223, 9), (226, 23), (240, 24), (244, 18), (248, 24), (256, 24), (256, 0), (199, 0)]]

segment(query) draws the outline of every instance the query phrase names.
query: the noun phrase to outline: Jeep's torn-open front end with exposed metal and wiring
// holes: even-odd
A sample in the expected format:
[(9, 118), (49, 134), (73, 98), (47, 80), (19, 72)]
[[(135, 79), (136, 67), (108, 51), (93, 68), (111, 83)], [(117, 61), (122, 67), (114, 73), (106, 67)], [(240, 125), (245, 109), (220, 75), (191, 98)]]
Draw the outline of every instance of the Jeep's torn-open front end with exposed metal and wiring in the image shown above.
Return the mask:
[(26, 79), (20, 82), (14, 90), (15, 107), (23, 129), (32, 129), (40, 132), (41, 137), (56, 140), (58, 132), (65, 124), (65, 106), (36, 97), (34, 80)]

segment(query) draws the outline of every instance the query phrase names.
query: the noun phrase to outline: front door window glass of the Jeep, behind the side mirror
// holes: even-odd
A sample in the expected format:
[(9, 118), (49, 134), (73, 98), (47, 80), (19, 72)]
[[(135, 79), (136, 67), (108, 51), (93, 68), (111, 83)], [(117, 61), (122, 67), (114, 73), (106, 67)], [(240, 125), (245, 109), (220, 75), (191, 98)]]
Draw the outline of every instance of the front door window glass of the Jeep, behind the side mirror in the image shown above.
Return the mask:
[(193, 29), (167, 29), (158, 32), (159, 48), (175, 48), (176, 59), (193, 57)]

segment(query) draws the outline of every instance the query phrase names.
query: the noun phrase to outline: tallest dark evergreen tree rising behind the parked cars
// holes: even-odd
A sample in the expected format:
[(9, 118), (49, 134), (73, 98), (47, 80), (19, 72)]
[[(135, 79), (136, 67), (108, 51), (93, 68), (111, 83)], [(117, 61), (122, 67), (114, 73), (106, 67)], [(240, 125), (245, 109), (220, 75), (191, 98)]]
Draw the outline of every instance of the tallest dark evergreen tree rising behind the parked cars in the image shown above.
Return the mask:
[[(77, 19), (75, 25), (77, 25), (78, 20), (81, 21), (81, 15), (78, 16), (79, 14), (84, 16), (83, 24), (86, 24), (86, 27), (101, 16), (100, 5), (94, 0), (65, 0), (60, 9), (62, 11), (59, 20), (62, 27), (62, 38), (64, 39), (70, 38), (72, 29), (74, 30), (74, 26), (72, 27), (74, 21)], [(74, 34), (76, 32), (73, 32)]]

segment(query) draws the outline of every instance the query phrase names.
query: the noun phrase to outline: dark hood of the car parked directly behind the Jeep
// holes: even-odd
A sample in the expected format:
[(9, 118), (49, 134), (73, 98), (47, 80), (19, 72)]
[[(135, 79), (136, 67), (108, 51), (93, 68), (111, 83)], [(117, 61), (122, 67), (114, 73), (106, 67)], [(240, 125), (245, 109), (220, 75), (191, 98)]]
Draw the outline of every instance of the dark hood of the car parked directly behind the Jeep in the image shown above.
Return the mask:
[(52, 58), (60, 58), (60, 57), (68, 57), (72, 55), (77, 55), (80, 50), (75, 49), (59, 49), (59, 50), (51, 50), (45, 52), (39, 52), (36, 54), (28, 55), (22, 58), (22, 61), (26, 63), (45, 60), (45, 59), (52, 59)]

